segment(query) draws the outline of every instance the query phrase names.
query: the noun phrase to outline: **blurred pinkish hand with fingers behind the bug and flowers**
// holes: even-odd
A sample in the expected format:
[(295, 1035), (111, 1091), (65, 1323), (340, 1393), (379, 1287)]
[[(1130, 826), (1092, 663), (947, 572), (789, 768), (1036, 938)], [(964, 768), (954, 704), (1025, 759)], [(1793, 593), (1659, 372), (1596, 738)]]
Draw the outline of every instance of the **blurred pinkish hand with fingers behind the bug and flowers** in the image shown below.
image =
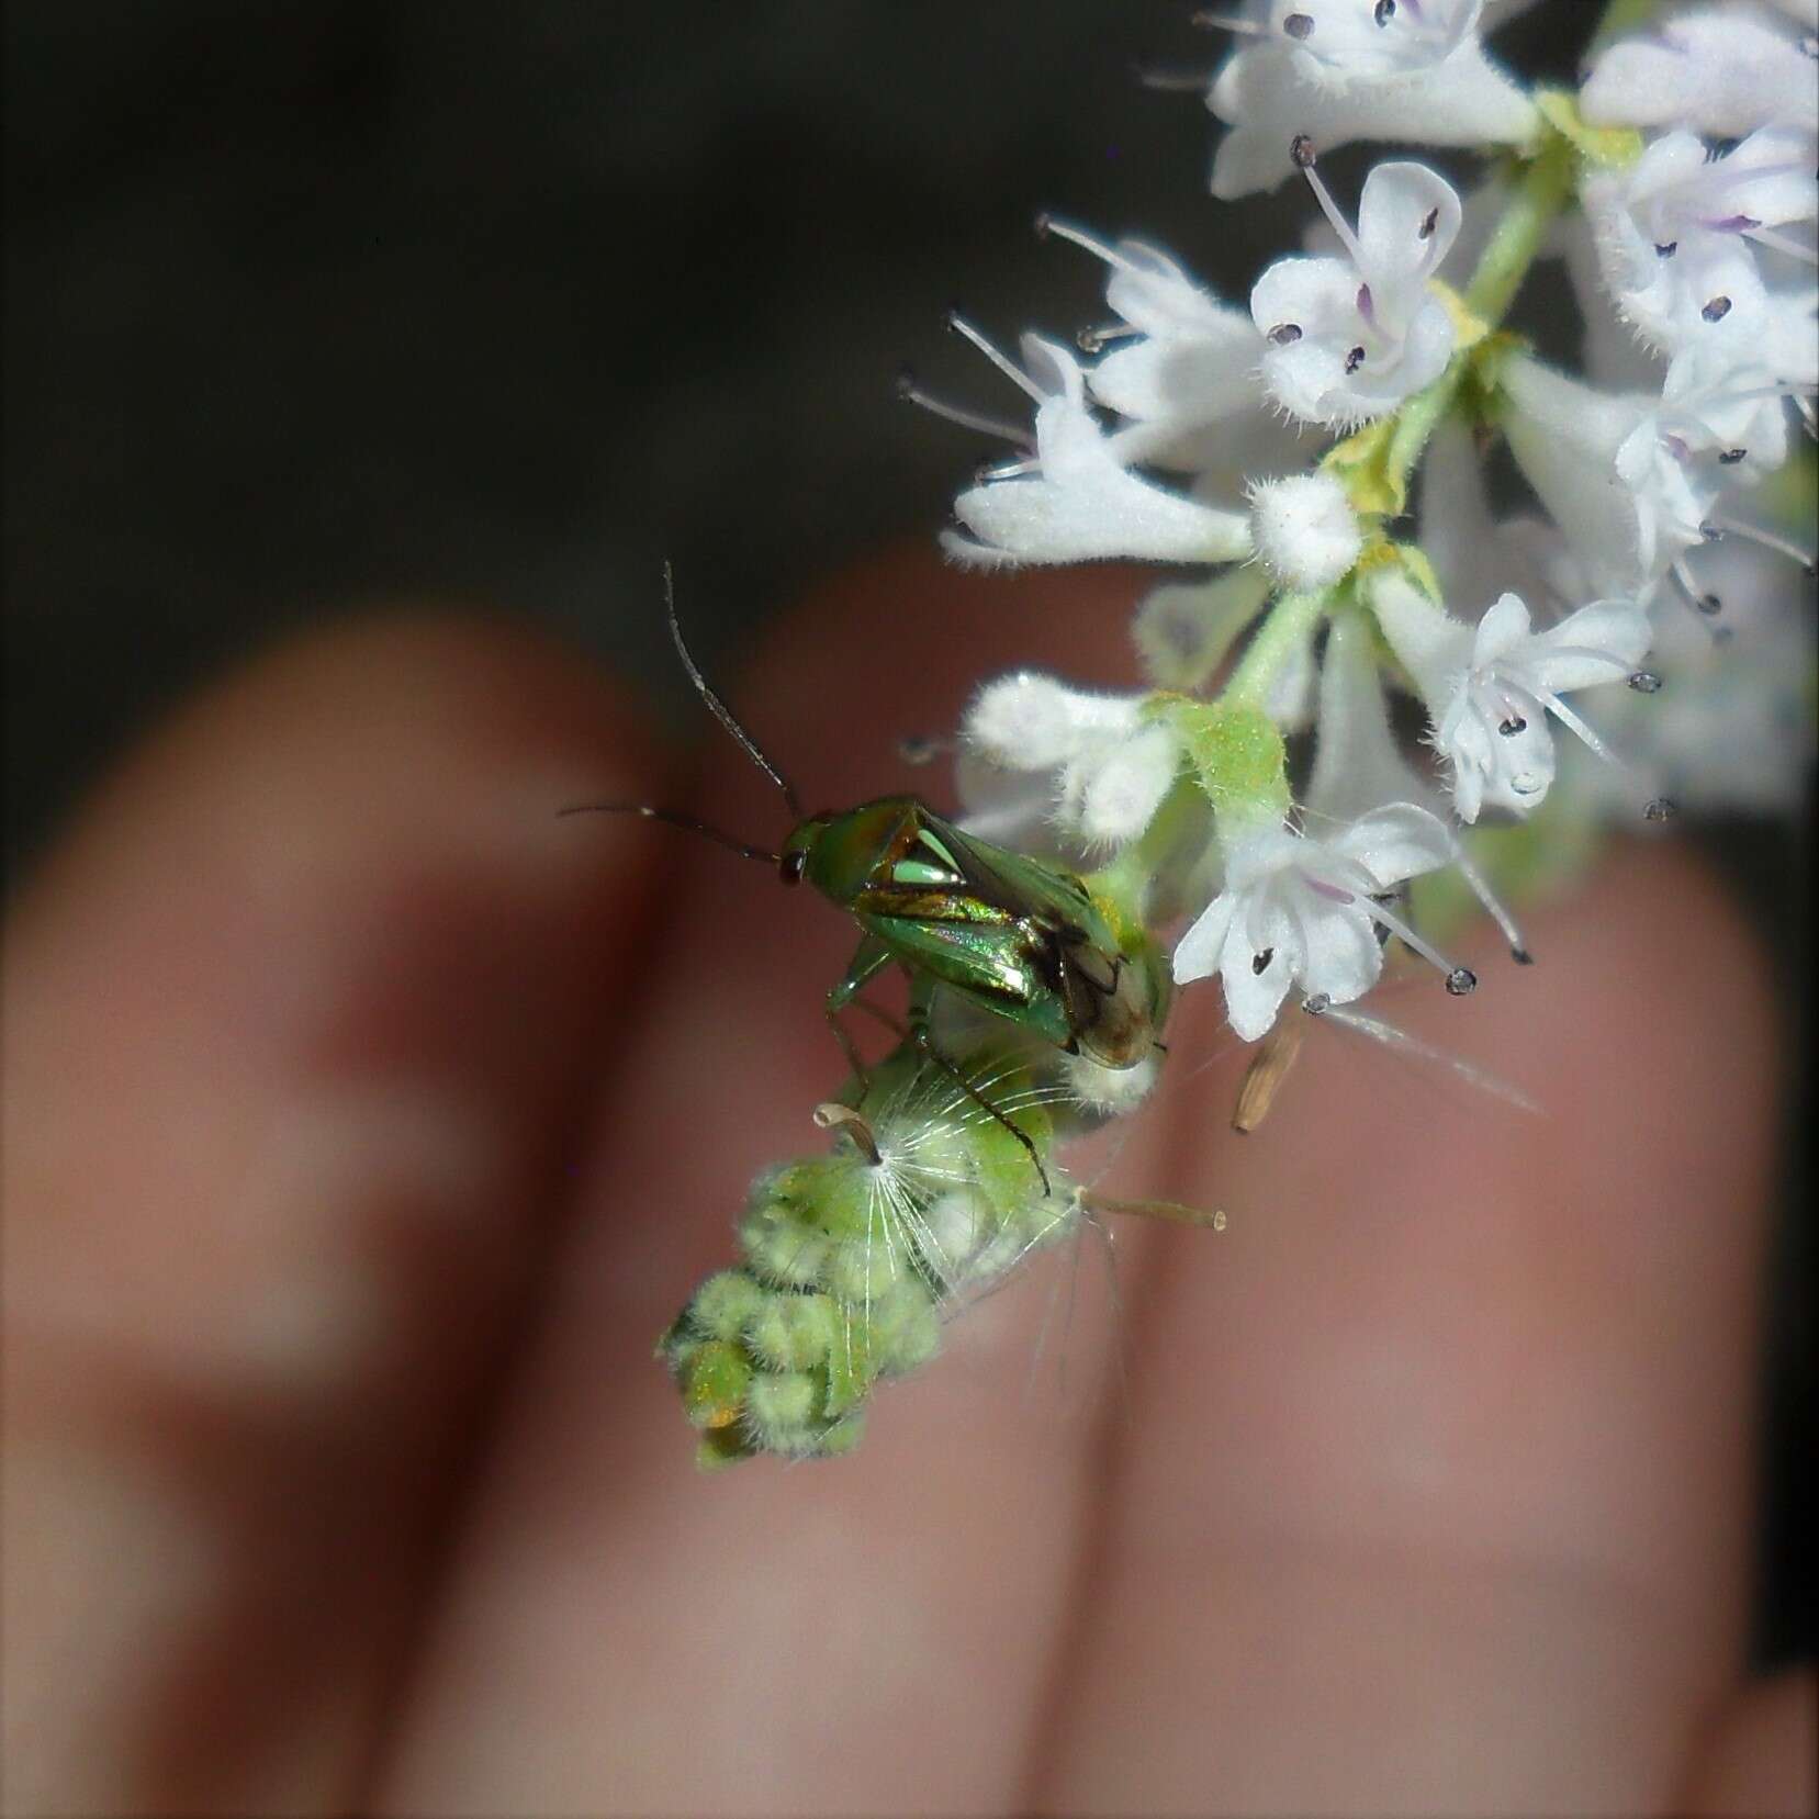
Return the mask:
[[(1137, 588), (891, 557), (739, 700), (806, 799), (902, 788), (980, 673), (1128, 682)], [(1810, 1686), (1741, 1683), (1775, 1040), (1684, 853), (1399, 999), (1548, 1119), (1310, 1042), (1233, 1139), (1190, 990), (1106, 1188), (1230, 1224), (1122, 1235), (1122, 1412), (1022, 1388), (1051, 1262), (855, 1457), (700, 1479), (651, 1342), (817, 1142), (849, 931), (553, 815), (602, 797), (688, 800), (624, 691), (378, 622), (195, 702), (18, 900), (11, 1810), (1797, 1801)]]

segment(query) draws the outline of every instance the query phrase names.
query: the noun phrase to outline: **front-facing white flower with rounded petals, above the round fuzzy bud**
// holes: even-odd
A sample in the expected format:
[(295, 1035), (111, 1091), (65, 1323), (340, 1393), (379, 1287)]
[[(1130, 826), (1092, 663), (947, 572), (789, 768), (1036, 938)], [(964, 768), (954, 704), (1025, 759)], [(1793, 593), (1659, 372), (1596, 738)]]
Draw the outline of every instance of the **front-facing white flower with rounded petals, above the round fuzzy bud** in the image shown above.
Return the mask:
[(1428, 278), (1461, 211), (1452, 184), (1426, 166), (1379, 164), (1364, 178), (1353, 235), (1313, 180), (1350, 256), (1277, 260), (1251, 289), (1251, 320), (1270, 344), (1270, 397), (1306, 422), (1344, 429), (1393, 411), (1446, 369), (1453, 324)]

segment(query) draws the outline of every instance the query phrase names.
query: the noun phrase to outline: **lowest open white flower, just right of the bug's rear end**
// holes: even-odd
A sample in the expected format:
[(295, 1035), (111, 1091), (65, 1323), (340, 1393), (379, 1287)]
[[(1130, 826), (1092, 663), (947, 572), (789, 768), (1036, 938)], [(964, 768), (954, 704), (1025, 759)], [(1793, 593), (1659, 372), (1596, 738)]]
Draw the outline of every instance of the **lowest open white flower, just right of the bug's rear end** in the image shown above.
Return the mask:
[(1226, 884), (1175, 948), (1175, 979), (1219, 973), (1226, 1017), (1246, 1042), (1261, 1037), (1299, 984), (1348, 1004), (1382, 973), (1379, 928), (1401, 935), (1448, 975), (1453, 993), (1477, 980), (1433, 951), (1381, 899), (1452, 859), (1446, 824), (1410, 802), (1361, 817), (1332, 839), (1251, 824), (1226, 839)]

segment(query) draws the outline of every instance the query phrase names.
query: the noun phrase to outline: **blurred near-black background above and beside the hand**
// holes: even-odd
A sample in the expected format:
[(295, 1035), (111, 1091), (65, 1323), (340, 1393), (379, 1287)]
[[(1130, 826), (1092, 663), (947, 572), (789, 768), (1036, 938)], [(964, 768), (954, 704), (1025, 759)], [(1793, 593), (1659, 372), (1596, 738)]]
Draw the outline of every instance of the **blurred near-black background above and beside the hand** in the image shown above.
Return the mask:
[[(1593, 13), (1550, 0), (1499, 42), (1568, 73)], [(467, 598), (678, 711), (662, 557), (729, 669), (809, 582), (933, 535), (988, 449), (900, 404), (899, 369), (1022, 418), (944, 309), (1006, 344), (1102, 315), (1039, 209), (1141, 229), (1233, 296), (1282, 249), (1281, 198), (1208, 200), (1199, 98), (1133, 76), (1211, 67), (1190, 15), (7, 5), (9, 871), (151, 715), (286, 628)], [(1792, 842), (1728, 849), (1797, 919)], [(1814, 1646), (1810, 1230), (1777, 1268), (1772, 1659)]]

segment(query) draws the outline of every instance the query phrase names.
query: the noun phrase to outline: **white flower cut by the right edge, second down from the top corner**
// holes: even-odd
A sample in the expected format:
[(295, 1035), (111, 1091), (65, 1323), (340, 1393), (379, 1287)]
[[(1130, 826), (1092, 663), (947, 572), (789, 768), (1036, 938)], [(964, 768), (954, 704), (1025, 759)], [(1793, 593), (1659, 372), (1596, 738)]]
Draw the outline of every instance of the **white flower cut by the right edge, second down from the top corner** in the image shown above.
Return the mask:
[[(1812, 256), (1781, 231), (1819, 213), (1812, 160), (1812, 136), (1784, 126), (1761, 127), (1723, 156), (1710, 156), (1693, 133), (1668, 133), (1630, 169), (1593, 176), (1584, 206), (1624, 318), (1652, 346), (1675, 353), (1713, 338), (1757, 344), (1768, 315), (1810, 313), (1810, 278), (1777, 295), (1757, 269), (1752, 240)], [(1810, 367), (1812, 347), (1810, 326), (1792, 331), (1790, 360)]]

